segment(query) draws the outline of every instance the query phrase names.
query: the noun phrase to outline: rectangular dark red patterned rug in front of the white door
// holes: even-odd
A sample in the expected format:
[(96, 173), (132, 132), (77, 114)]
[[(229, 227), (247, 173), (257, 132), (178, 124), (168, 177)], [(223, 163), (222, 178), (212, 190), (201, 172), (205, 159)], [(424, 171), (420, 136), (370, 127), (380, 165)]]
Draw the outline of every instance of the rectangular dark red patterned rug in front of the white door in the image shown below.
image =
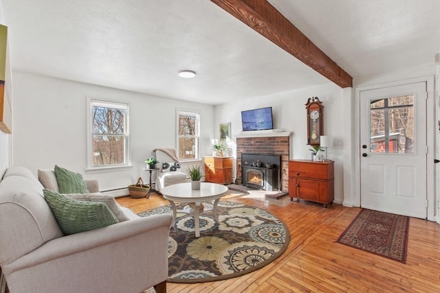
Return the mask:
[(409, 222), (404, 215), (362, 209), (336, 242), (406, 263)]

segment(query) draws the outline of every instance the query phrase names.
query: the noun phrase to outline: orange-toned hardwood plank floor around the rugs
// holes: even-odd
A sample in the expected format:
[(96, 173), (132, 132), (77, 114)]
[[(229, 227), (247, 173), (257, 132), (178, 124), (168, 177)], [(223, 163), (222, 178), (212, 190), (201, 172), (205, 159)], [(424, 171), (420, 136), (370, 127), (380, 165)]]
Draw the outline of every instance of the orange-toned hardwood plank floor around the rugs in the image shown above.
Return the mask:
[[(286, 207), (250, 198), (225, 198), (270, 211), (289, 227), (285, 253), (269, 265), (225, 281), (167, 283), (168, 292), (440, 292), (440, 226), (411, 218), (406, 264), (336, 243), (359, 208), (311, 202)], [(118, 198), (136, 213), (168, 204), (152, 194), (147, 200)]]

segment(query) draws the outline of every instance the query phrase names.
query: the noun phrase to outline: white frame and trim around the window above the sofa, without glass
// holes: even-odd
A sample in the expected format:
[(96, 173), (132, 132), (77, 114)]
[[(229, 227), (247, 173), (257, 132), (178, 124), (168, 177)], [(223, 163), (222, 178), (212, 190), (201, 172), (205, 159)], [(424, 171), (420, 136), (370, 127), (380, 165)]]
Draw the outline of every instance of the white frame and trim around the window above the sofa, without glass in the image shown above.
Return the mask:
[[(94, 121), (93, 109), (94, 106), (108, 106), (107, 108), (123, 108), (126, 110), (124, 115), (124, 163), (111, 165), (94, 165)], [(113, 106), (113, 107), (112, 107)], [(130, 130), (129, 130), (129, 104), (123, 102), (115, 102), (109, 99), (98, 99), (87, 97), (87, 170), (102, 170), (102, 169), (119, 169), (125, 167), (132, 167), (130, 156)], [(100, 134), (102, 135), (102, 133)]]

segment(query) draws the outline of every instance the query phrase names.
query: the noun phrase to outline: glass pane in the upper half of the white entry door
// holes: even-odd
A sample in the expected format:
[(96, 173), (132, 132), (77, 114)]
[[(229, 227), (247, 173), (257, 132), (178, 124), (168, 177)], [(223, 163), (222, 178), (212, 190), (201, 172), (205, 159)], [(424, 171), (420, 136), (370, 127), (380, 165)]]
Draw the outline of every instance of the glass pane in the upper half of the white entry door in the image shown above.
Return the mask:
[(414, 96), (370, 102), (370, 152), (414, 154)]

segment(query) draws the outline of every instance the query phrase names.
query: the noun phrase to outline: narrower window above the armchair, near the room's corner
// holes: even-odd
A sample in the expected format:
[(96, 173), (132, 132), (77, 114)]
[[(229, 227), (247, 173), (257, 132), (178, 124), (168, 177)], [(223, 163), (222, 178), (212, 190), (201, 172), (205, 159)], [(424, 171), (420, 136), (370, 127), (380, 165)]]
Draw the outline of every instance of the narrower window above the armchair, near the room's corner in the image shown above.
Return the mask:
[(181, 161), (199, 159), (200, 114), (177, 110), (177, 152)]

